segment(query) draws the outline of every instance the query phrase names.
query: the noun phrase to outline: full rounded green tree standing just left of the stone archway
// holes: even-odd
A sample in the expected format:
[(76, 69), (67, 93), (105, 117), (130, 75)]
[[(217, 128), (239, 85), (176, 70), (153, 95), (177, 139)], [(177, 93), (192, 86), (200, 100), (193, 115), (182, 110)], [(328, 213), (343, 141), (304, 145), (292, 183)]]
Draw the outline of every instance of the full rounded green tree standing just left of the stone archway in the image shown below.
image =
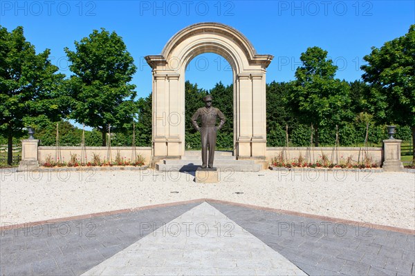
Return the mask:
[(65, 48), (69, 68), (75, 74), (68, 81), (73, 98), (71, 118), (102, 132), (125, 128), (137, 112), (135, 85), (130, 84), (136, 66), (122, 38), (116, 32), (93, 30), (89, 37), (75, 41), (75, 51)]

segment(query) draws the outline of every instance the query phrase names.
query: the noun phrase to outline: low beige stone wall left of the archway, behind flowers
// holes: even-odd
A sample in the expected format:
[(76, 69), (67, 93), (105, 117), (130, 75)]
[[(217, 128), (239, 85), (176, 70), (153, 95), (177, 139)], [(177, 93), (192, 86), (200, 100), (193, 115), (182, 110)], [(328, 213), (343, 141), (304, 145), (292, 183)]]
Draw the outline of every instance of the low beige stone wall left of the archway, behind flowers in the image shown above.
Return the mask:
[[(38, 148), (38, 160), (40, 164), (44, 164), (45, 159), (48, 155), (55, 159), (55, 146), (39, 146)], [(76, 153), (77, 158), (81, 158), (81, 147), (80, 146), (62, 146), (60, 147), (62, 161), (70, 161), (71, 154)], [(103, 161), (107, 159), (108, 148), (107, 147), (91, 147), (87, 146), (86, 149), (86, 162), (92, 161), (93, 153), (95, 155), (100, 155), (100, 159)], [(121, 157), (131, 160), (132, 147), (111, 147), (111, 157), (112, 160), (116, 159), (118, 150), (120, 150)], [(148, 165), (151, 161), (151, 147), (136, 147), (137, 155), (142, 155), (145, 157), (145, 164)], [(108, 159), (107, 159), (108, 160)]]

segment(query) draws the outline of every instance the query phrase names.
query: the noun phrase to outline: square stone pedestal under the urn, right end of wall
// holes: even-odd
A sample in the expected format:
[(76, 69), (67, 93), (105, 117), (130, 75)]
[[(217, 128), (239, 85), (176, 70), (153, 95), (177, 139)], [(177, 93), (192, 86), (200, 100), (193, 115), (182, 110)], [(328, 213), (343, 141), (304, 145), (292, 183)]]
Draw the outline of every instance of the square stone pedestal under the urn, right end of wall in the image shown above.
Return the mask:
[(400, 144), (402, 140), (387, 139), (383, 140), (383, 165), (385, 172), (402, 172), (403, 164), (400, 161)]

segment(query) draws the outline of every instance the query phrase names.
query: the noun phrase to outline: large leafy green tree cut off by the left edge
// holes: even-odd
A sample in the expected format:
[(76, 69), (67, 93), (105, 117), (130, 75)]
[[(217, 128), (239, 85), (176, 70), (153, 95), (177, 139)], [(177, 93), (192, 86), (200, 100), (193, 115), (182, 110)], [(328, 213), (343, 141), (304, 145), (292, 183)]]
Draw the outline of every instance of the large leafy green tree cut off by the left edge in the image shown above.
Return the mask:
[(8, 164), (22, 128), (42, 128), (66, 114), (68, 99), (59, 91), (65, 75), (56, 73), (49, 54), (36, 54), (22, 27), (8, 32), (0, 26), (0, 133), (8, 138)]

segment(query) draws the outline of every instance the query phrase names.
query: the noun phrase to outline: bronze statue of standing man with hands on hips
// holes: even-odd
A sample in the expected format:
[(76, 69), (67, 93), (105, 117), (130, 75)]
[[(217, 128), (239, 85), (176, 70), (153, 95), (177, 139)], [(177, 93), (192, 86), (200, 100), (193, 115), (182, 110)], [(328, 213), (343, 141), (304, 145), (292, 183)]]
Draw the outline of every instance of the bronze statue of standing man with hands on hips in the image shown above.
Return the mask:
[[(213, 168), (214, 148), (216, 146), (216, 132), (220, 130), (225, 124), (225, 115), (218, 108), (212, 106), (211, 95), (203, 97), (205, 102), (204, 108), (199, 108), (192, 116), (192, 124), (196, 130), (201, 132), (202, 141), (202, 168), (206, 168), (208, 163), (209, 168)], [(197, 120), (201, 117), (202, 126), (199, 127)], [(216, 126), (216, 118), (219, 117), (221, 122)], [(209, 162), (208, 161), (208, 147), (209, 147)]]

